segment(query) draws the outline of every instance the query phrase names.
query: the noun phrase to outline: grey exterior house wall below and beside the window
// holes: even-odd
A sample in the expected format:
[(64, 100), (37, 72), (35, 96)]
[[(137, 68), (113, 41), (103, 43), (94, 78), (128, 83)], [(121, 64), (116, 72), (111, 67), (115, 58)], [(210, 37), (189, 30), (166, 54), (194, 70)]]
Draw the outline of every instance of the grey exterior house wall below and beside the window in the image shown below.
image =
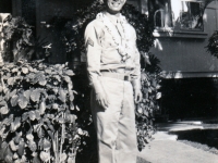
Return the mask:
[(211, 2), (204, 12), (204, 33), (201, 32), (155, 32), (152, 52), (160, 60), (166, 72), (193, 73), (190, 77), (207, 76), (218, 72), (218, 59), (206, 51), (208, 38), (218, 29), (218, 1)]

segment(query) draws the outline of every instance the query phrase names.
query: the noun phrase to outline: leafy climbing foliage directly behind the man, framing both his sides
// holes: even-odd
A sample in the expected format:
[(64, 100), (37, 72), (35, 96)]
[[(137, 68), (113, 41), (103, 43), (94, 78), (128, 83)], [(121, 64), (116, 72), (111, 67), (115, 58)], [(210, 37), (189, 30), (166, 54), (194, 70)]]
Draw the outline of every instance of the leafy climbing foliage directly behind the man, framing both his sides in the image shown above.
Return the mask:
[[(78, 10), (71, 22), (68, 22), (64, 30), (62, 32), (62, 41), (65, 46), (65, 51), (69, 53), (69, 60), (72, 57), (80, 60), (81, 55), (85, 54), (84, 46), (84, 32), (86, 25), (93, 21), (97, 13), (105, 9), (98, 0), (96, 0), (92, 5), (86, 9)], [(122, 14), (125, 15), (130, 24), (132, 24), (136, 30), (137, 35), (137, 48), (141, 52), (141, 64), (142, 64), (142, 91), (144, 100), (137, 105), (136, 110), (136, 124), (137, 124), (137, 136), (138, 136), (138, 149), (145, 146), (145, 143), (150, 138), (152, 133), (154, 133), (154, 111), (158, 109), (157, 99), (161, 97), (158, 92), (159, 83), (159, 72), (158, 66), (159, 60), (155, 58), (152, 53), (148, 53), (149, 48), (153, 46), (153, 24), (148, 21), (148, 17), (141, 14), (135, 10), (134, 7), (125, 4)], [(71, 60), (72, 61), (72, 60)], [(150, 65), (149, 65), (150, 64)], [(85, 66), (78, 70), (78, 74), (84, 74)], [(83, 77), (81, 77), (83, 78)], [(81, 93), (87, 95), (87, 89), (80, 90)], [(88, 96), (87, 96), (88, 97)], [(86, 99), (84, 98), (84, 101)], [(81, 102), (84, 102), (81, 100)], [(87, 110), (86, 108), (82, 110)]]

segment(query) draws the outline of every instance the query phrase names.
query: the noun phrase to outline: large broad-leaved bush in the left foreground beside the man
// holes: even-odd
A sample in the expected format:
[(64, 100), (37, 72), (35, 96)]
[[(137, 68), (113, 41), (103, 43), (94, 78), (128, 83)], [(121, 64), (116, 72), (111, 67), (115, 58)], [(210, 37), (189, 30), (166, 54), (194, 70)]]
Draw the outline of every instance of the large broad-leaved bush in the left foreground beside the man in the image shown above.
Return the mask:
[(0, 160), (73, 162), (88, 136), (77, 123), (73, 71), (24, 60), (0, 68)]

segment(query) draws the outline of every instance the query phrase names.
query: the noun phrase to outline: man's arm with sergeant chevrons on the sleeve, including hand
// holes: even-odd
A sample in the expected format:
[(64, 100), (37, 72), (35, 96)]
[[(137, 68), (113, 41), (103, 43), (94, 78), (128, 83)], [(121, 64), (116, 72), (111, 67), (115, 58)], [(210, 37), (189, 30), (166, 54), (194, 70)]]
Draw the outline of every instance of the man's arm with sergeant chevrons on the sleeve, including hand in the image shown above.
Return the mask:
[(85, 46), (87, 51), (87, 72), (90, 86), (95, 89), (98, 104), (106, 109), (108, 106), (108, 98), (100, 82), (100, 55), (102, 49), (93, 23), (89, 23), (86, 27)]

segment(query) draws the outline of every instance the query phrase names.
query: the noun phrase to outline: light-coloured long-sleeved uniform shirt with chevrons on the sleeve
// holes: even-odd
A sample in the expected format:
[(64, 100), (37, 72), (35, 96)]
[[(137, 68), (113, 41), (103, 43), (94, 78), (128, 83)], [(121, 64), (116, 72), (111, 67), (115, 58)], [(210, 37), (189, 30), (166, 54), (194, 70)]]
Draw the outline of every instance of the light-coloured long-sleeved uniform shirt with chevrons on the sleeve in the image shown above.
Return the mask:
[[(96, 92), (102, 89), (100, 76), (104, 71), (130, 75), (134, 87), (140, 88), (141, 65), (135, 29), (121, 14), (116, 22), (112, 21), (101, 12), (85, 30), (88, 77)], [(126, 53), (124, 61), (123, 50)]]

